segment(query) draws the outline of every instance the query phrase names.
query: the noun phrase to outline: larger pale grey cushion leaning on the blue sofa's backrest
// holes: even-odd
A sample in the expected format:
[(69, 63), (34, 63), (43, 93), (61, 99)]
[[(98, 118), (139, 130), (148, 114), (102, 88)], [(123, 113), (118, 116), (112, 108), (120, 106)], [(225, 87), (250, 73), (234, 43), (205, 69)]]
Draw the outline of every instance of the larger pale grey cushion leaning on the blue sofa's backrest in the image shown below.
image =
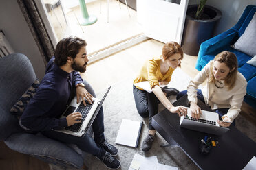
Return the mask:
[(249, 56), (256, 55), (256, 13), (253, 16), (253, 19), (250, 21), (248, 26), (246, 27), (244, 34), (235, 42), (233, 48), (238, 51), (242, 51)]

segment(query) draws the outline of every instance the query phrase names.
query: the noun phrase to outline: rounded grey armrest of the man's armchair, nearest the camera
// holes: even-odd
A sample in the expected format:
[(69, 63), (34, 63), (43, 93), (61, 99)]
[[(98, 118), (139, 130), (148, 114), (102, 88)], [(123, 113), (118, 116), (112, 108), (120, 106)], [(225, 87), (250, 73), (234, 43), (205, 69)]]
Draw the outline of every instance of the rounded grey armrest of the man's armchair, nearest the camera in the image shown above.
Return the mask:
[(17, 133), (9, 136), (6, 145), (14, 151), (32, 156), (41, 157), (41, 160), (52, 162), (56, 165), (72, 165), (76, 168), (83, 166), (83, 157), (74, 149), (45, 136)]

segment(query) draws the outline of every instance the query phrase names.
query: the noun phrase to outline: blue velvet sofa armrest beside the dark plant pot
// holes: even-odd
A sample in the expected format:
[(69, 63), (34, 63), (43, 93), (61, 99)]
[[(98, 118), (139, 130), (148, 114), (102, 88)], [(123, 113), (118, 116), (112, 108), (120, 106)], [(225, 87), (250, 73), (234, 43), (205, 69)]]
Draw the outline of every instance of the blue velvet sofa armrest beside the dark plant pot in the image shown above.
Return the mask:
[(231, 45), (231, 42), (236, 36), (237, 30), (231, 28), (228, 29), (226, 32), (223, 32), (222, 34), (219, 34), (209, 40), (204, 41), (200, 45), (200, 51), (198, 53), (198, 60), (195, 64), (195, 69), (201, 71), (202, 66), (200, 65), (200, 60), (202, 60), (202, 56), (217, 51), (224, 46)]

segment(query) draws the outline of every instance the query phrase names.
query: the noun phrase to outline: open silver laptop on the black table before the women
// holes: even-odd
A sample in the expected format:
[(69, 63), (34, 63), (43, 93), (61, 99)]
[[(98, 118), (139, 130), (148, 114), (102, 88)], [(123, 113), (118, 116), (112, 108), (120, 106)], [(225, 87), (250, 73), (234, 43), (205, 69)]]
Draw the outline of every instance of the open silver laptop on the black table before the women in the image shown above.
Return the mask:
[(217, 120), (219, 120), (219, 114), (217, 114), (217, 112), (209, 112), (206, 110), (202, 110), (200, 119), (196, 120), (191, 117), (191, 110), (188, 108), (187, 116), (180, 117), (180, 127), (205, 132), (207, 134), (222, 135), (227, 132), (229, 128), (221, 127), (217, 123)]

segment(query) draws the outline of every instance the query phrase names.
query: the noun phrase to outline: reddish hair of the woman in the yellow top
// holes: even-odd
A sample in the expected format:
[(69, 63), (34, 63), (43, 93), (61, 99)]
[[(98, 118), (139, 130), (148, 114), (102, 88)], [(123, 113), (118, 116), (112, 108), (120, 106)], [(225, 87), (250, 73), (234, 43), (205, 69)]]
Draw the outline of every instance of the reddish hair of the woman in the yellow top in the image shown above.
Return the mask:
[(164, 60), (167, 60), (167, 58), (173, 56), (173, 54), (175, 53), (180, 53), (180, 56), (183, 59), (182, 47), (177, 42), (174, 42), (174, 41), (167, 42), (164, 45), (164, 47), (162, 47), (162, 57), (164, 58)]

